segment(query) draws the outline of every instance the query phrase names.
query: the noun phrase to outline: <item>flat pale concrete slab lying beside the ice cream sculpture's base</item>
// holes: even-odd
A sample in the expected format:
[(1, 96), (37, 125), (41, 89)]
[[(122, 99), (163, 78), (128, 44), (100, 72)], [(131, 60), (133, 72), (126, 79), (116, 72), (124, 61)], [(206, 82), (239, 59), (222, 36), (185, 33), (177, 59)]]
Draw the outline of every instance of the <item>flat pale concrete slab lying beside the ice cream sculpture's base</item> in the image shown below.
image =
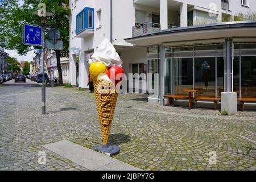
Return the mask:
[(68, 140), (49, 143), (43, 147), (92, 171), (141, 171), (141, 169), (130, 164), (110, 158), (107, 155), (82, 147)]

